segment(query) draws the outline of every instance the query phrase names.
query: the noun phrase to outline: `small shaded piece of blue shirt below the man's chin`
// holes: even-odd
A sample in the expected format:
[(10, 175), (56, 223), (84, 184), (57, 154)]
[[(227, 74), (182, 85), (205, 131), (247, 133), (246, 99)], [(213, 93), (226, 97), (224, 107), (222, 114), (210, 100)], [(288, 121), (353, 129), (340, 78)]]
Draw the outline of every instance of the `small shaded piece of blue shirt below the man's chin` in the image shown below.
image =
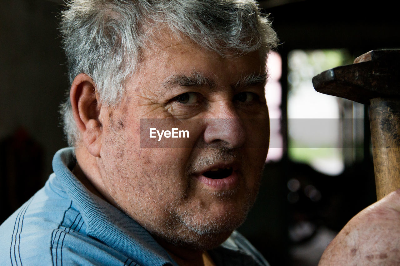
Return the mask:
[(269, 266), (262, 254), (237, 231), (209, 253), (217, 265)]

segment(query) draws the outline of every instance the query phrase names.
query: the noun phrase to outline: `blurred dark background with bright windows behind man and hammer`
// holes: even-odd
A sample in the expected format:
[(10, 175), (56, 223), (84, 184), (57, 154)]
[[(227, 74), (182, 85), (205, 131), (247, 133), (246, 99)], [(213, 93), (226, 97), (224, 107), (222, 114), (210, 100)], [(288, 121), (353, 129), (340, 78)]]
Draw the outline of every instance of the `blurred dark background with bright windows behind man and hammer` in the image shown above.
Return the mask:
[[(395, 1), (264, 0), (281, 45), (269, 56), (270, 153), (239, 228), (272, 265), (317, 265), (376, 201), (368, 106), (314, 91), (314, 75), (374, 49), (400, 48)], [(66, 147), (62, 0), (0, 2), (0, 222), (44, 185)], [(306, 130), (305, 130), (306, 129)], [(315, 134), (315, 135), (314, 135)]]

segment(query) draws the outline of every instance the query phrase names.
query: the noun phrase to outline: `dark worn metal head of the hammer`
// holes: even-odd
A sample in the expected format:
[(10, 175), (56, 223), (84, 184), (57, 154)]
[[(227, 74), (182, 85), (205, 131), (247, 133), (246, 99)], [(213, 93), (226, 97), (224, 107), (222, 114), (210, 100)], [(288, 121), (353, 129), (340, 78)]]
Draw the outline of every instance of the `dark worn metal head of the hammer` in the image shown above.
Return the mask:
[(372, 50), (354, 64), (312, 78), (316, 91), (369, 104), (373, 98), (400, 98), (400, 50)]

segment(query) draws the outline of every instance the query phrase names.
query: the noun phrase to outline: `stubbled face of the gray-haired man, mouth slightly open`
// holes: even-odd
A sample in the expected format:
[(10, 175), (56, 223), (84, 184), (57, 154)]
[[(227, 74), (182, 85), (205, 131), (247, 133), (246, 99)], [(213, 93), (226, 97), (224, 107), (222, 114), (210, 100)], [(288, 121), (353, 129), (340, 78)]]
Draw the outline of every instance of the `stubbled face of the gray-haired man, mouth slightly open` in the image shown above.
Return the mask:
[[(169, 32), (156, 38), (122, 103), (102, 109), (98, 160), (107, 198), (170, 243), (223, 242), (258, 192), (269, 139), (264, 81), (259, 52), (222, 58)], [(190, 138), (141, 147), (140, 119), (182, 127)], [(150, 141), (143, 136), (142, 144)]]

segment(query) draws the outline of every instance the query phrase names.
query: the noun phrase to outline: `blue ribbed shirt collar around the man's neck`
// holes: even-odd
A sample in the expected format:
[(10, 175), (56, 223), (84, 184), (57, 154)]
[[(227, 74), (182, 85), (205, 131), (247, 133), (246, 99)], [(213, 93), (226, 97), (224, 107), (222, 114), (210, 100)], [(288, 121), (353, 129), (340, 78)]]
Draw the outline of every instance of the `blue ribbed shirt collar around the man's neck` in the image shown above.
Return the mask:
[(61, 149), (54, 155), (54, 173), (82, 214), (89, 236), (140, 265), (177, 265), (140, 224), (88, 191), (71, 172), (75, 164), (73, 148)]

